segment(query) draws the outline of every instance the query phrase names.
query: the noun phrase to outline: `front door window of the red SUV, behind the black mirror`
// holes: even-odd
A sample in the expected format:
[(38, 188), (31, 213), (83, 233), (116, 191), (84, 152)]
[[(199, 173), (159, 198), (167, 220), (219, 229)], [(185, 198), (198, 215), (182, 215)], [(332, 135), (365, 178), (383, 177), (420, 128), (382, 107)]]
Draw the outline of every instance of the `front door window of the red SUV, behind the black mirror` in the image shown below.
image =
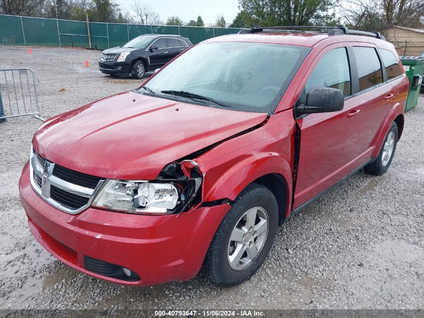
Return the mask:
[(351, 82), (346, 48), (327, 52), (317, 63), (305, 85), (306, 93), (315, 87), (337, 88), (345, 97), (350, 95)]

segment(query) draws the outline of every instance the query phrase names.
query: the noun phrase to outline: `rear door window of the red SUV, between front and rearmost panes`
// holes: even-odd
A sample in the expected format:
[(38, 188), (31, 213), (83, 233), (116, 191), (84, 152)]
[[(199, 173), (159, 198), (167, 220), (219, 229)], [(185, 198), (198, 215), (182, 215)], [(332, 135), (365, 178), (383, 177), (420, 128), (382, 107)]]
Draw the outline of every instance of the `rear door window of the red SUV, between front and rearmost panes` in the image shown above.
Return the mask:
[(383, 82), (380, 60), (374, 48), (353, 48), (358, 66), (359, 90), (365, 90)]

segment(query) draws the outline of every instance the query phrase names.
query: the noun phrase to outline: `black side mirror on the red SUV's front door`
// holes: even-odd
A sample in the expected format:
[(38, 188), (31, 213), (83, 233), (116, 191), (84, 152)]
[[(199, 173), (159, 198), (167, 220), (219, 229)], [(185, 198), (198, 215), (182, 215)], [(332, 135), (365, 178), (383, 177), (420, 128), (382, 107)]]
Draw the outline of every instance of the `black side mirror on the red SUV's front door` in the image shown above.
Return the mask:
[(313, 113), (331, 113), (343, 109), (343, 92), (337, 88), (315, 87), (312, 88), (306, 98), (306, 105), (298, 105), (298, 115)]

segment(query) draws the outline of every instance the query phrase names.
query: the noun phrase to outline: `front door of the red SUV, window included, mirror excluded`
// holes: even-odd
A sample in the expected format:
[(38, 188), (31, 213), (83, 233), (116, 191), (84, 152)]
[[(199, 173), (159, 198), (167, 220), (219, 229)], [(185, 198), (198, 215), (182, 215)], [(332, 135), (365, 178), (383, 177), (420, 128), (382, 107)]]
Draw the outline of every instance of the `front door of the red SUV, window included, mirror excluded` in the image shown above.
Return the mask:
[(352, 95), (357, 72), (349, 51), (343, 44), (328, 46), (315, 58), (312, 72), (308, 70), (304, 97), (298, 103), (305, 103), (306, 94), (314, 87), (340, 89), (345, 101), (340, 112), (310, 114), (296, 120), (301, 138), (293, 208), (325, 191), (369, 158), (358, 142), (363, 133), (357, 117), (361, 100)]

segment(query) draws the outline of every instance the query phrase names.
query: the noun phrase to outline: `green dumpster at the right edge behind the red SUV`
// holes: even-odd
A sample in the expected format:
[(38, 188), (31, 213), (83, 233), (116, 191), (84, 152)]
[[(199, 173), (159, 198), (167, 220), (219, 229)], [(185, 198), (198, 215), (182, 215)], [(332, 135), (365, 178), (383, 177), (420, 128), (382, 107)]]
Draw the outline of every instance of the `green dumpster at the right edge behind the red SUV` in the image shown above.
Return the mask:
[(424, 57), (400, 56), (406, 76), (409, 79), (408, 99), (406, 100), (405, 112), (416, 106), (419, 89), (421, 88), (422, 74), (424, 73)]

